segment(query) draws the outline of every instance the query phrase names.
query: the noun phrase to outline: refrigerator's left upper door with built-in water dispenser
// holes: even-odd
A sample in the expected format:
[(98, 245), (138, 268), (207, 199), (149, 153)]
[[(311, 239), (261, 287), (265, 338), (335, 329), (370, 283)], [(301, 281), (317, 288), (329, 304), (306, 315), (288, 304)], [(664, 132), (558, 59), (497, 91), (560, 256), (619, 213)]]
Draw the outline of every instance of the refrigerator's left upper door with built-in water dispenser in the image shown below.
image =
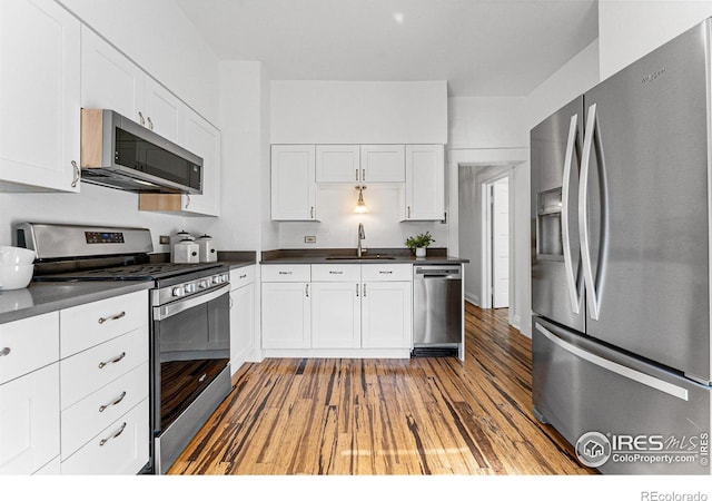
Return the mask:
[(585, 306), (578, 238), (583, 98), (532, 129), (532, 310), (578, 332)]

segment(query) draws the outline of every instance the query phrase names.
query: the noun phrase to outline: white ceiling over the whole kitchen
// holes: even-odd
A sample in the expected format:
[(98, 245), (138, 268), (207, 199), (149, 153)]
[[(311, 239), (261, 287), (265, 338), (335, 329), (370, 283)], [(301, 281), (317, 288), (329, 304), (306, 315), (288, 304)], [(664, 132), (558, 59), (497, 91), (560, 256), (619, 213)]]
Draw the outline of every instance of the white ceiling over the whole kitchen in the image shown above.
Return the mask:
[(599, 21), (596, 0), (176, 2), (219, 59), (271, 80), (447, 80), (458, 97), (526, 96)]

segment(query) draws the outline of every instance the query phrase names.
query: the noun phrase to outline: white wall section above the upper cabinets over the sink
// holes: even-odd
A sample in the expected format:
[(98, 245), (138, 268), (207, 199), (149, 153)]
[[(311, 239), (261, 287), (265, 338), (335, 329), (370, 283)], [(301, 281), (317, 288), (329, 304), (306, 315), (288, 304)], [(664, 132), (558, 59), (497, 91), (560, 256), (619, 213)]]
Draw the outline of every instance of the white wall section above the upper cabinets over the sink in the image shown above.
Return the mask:
[(273, 144), (447, 141), (446, 81), (271, 82)]

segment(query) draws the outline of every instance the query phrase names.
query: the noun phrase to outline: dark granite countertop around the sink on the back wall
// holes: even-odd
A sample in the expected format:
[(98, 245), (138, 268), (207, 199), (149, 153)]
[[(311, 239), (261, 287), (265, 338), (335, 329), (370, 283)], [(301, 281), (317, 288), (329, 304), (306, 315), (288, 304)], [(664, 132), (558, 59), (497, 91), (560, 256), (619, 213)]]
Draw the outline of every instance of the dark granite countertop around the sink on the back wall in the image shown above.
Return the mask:
[(426, 257), (415, 257), (407, 248), (369, 248), (363, 256), (359, 258), (355, 248), (280, 249), (263, 253), (260, 264), (469, 263), (469, 259), (447, 255), (446, 248), (428, 248)]

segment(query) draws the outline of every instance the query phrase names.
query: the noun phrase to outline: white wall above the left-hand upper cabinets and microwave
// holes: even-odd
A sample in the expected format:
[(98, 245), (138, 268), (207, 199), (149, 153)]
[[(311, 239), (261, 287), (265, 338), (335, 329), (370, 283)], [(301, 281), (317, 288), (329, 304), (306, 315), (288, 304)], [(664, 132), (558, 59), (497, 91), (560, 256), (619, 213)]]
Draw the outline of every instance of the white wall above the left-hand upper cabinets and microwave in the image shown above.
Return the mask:
[(214, 125), (218, 58), (171, 0), (60, 0)]

